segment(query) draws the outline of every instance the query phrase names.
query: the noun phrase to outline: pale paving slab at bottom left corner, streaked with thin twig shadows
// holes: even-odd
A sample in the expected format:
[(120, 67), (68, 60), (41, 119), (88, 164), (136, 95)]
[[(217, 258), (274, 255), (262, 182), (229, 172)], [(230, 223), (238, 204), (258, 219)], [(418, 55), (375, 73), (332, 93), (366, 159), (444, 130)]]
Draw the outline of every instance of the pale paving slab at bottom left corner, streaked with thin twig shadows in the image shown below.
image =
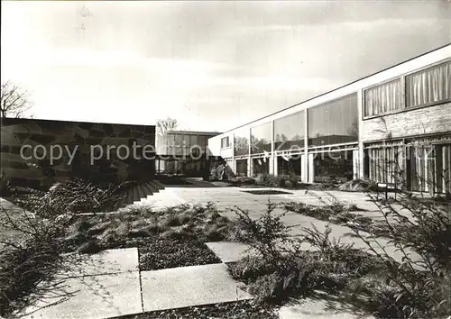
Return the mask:
[(139, 272), (67, 278), (36, 305), (27, 319), (101, 319), (143, 311)]

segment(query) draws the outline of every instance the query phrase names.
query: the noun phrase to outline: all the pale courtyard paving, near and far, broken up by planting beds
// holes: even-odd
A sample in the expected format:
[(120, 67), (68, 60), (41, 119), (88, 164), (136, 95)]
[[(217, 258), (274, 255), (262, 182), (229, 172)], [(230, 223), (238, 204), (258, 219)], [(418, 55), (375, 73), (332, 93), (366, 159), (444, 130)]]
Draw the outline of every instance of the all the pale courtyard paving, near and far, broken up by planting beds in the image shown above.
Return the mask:
[[(361, 193), (339, 191), (290, 191), (287, 195), (253, 195), (243, 192), (251, 188), (237, 187), (166, 187), (154, 196), (143, 199), (140, 205), (154, 205), (156, 208), (182, 203), (206, 205), (213, 202), (221, 214), (235, 218), (229, 208), (240, 206), (249, 210), (253, 218), (258, 218), (265, 210), (268, 198), (272, 203), (302, 201), (306, 204), (321, 205), (322, 199), (343, 200), (355, 203), (375, 218), (376, 206)], [(258, 188), (262, 189), (262, 188)], [(313, 194), (316, 194), (314, 196)], [(11, 205), (4, 202), (3, 204)], [(323, 202), (324, 204), (324, 202)], [(277, 209), (277, 213), (283, 213)], [(294, 226), (293, 236), (303, 233), (302, 227), (312, 223), (324, 230), (326, 222), (302, 214), (287, 213), (283, 221)], [(331, 235), (342, 242), (353, 242), (354, 246), (366, 248), (360, 239), (351, 237), (352, 231), (345, 226), (330, 224)], [(380, 240), (391, 255), (400, 260), (401, 255), (385, 240)], [(179, 308), (191, 305), (207, 305), (219, 302), (252, 298), (243, 285), (235, 282), (227, 273), (224, 262), (239, 260), (244, 256), (245, 246), (234, 242), (210, 242), (207, 246), (216, 253), (222, 263), (190, 266), (174, 269), (140, 271), (136, 248), (102, 251), (96, 255), (82, 255), (71, 270), (56, 275), (54, 288), (37, 304), (23, 309), (25, 318), (91, 318), (100, 319), (124, 314), (139, 314), (154, 310)], [(309, 249), (308, 247), (306, 247)], [(69, 258), (69, 257), (68, 257)], [(307, 298), (293, 305), (286, 305), (279, 311), (280, 317), (287, 318), (327, 318), (367, 317), (357, 309), (350, 310), (342, 304), (327, 300), (327, 297)], [(331, 303), (336, 303), (330, 308)]]

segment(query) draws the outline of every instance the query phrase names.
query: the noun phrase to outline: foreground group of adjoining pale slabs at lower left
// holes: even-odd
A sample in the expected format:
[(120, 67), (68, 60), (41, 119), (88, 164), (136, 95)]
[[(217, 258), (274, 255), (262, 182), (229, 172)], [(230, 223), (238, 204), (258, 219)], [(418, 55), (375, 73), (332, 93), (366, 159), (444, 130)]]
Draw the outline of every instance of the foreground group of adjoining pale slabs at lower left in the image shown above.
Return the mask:
[(17, 316), (101, 319), (252, 298), (224, 263), (139, 271), (136, 248), (65, 257), (67, 268), (43, 283), (32, 295), (36, 302)]

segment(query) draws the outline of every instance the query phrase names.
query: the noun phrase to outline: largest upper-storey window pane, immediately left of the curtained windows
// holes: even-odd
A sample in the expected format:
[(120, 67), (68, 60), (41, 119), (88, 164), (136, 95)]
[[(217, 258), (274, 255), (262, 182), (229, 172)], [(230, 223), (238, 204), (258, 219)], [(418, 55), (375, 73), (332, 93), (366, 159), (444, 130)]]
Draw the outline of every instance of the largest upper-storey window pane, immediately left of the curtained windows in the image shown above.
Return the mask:
[(308, 109), (308, 145), (358, 141), (357, 95), (345, 96)]

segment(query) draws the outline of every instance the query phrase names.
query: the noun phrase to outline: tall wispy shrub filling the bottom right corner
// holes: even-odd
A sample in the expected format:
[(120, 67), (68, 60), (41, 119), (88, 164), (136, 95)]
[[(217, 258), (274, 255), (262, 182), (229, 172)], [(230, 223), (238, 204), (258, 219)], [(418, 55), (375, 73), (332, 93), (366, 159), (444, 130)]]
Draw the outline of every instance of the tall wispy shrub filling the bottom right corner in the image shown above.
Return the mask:
[[(391, 243), (403, 254), (399, 265), (386, 251), (374, 250), (372, 243), (381, 247), (377, 238), (366, 239), (354, 229), (386, 266), (391, 289), (375, 296), (373, 305), (382, 315), (446, 317), (451, 311), (451, 229), (446, 208), (410, 198), (403, 204), (412, 214), (410, 219), (391, 203), (381, 203), (372, 195), (370, 199), (384, 216)], [(417, 252), (419, 259), (412, 257), (409, 251)]]

